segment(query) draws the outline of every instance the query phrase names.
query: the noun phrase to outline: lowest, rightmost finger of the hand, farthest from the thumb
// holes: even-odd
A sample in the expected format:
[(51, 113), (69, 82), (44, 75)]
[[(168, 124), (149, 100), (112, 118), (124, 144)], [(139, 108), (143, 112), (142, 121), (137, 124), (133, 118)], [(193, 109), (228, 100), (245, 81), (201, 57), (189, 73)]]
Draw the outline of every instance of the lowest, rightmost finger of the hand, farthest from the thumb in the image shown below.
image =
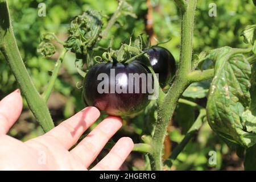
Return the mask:
[(109, 154), (105, 156), (96, 166), (91, 170), (105, 171), (105, 170), (118, 170), (125, 159), (133, 150), (133, 140), (128, 137), (123, 137), (118, 140), (115, 146), (110, 150)]

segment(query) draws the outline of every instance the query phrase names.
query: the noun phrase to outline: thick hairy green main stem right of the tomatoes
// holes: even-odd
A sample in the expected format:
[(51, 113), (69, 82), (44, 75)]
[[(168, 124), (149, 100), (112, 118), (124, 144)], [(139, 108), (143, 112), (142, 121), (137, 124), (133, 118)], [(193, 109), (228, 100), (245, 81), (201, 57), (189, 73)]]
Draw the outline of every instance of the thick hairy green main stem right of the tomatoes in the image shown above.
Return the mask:
[(196, 0), (187, 3), (187, 9), (181, 11), (181, 49), (180, 64), (176, 79), (168, 90), (166, 96), (158, 106), (158, 121), (156, 122), (155, 133), (152, 139), (153, 151), (150, 155), (151, 167), (154, 170), (161, 170), (163, 167), (162, 152), (163, 142), (166, 136), (168, 122), (174, 114), (177, 101), (180, 95), (189, 85), (188, 74), (191, 72), (193, 23), (196, 9)]

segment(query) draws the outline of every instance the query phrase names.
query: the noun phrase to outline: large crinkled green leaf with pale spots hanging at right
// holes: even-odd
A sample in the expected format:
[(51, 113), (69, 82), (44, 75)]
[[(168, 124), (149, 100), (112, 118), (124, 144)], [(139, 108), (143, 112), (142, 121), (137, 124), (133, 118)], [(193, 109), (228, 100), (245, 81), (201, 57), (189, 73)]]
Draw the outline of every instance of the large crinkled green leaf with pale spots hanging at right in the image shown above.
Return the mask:
[[(220, 56), (221, 55), (221, 56)], [(251, 67), (242, 54), (217, 55), (215, 76), (210, 85), (207, 116), (210, 127), (221, 137), (243, 147), (256, 143), (250, 132), (254, 119), (249, 115)], [(249, 131), (247, 131), (247, 129)]]

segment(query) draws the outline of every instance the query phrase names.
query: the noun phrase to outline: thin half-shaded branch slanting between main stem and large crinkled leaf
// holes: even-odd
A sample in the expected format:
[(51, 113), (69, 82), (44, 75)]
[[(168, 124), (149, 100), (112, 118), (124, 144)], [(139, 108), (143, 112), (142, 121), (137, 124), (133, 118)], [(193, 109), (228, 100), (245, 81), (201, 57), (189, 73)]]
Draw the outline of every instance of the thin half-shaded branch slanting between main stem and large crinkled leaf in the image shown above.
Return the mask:
[(193, 123), (191, 128), (188, 130), (188, 133), (185, 135), (183, 140), (174, 148), (174, 151), (172, 151), (172, 154), (168, 157), (168, 159), (166, 159), (164, 164), (166, 164), (168, 167), (172, 166), (172, 163), (177, 158), (177, 156), (180, 154), (180, 152), (183, 151), (183, 149), (188, 144), (188, 142), (191, 140), (191, 138), (200, 129), (205, 115), (206, 115), (206, 110), (200, 109), (200, 113), (199, 113), (199, 116), (197, 117), (196, 121)]

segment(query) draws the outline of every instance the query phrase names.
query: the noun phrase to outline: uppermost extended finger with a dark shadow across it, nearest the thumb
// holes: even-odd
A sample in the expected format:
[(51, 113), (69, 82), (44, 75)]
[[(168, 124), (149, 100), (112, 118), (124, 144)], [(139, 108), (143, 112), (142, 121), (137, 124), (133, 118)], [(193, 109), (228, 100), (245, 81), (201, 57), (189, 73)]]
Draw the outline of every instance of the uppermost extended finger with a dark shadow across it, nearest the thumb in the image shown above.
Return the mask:
[(59, 126), (48, 131), (40, 140), (43, 139), (44, 142), (50, 143), (52, 139), (56, 139), (68, 150), (98, 117), (100, 117), (100, 111), (96, 107), (86, 107), (84, 110), (60, 123)]

